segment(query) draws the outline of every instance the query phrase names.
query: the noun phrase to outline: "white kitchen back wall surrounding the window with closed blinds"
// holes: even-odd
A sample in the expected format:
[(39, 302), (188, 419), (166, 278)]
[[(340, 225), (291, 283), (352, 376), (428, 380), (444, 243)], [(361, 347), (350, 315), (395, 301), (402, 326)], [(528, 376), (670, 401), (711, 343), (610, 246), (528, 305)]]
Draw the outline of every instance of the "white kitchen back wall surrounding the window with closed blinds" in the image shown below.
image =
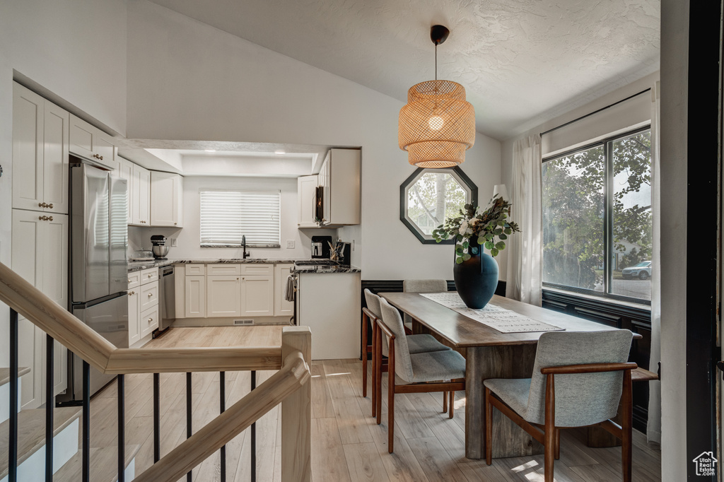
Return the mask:
[[(252, 258), (308, 259), (311, 258), (311, 237), (332, 236), (336, 229), (297, 229), (298, 203), (297, 179), (269, 177), (184, 177), (183, 216), (184, 228), (129, 227), (130, 249), (151, 249), (151, 235), (163, 234), (177, 238), (176, 248), (169, 249), (172, 259), (219, 259), (241, 258), (241, 248), (201, 248), (200, 197), (202, 189), (228, 190), (279, 190), (282, 193), (282, 248), (248, 248)], [(293, 240), (295, 247), (287, 249), (287, 240)]]

